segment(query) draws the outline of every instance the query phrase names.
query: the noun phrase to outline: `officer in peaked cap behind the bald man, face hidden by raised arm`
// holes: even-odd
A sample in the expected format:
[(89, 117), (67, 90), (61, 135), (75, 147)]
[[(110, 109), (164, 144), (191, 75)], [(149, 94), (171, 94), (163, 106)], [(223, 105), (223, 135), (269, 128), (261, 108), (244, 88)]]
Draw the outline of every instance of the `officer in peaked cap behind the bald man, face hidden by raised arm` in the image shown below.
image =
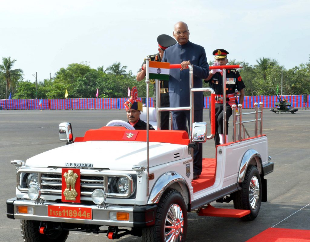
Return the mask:
[[(157, 43), (158, 43), (158, 53), (155, 55), (149, 55), (150, 61), (162, 61), (162, 57), (164, 55), (164, 51), (176, 44), (176, 41), (174, 38), (167, 34), (161, 34), (157, 37)], [(137, 74), (137, 81), (141, 81), (144, 79), (146, 75), (146, 60), (144, 59), (144, 62), (141, 65), (141, 68), (138, 71)], [(150, 80), (150, 82), (153, 84), (153, 90), (154, 90), (154, 95), (153, 95), (153, 102), (154, 102), (154, 107), (156, 107), (156, 92), (155, 92), (155, 80)], [(160, 107), (170, 107), (169, 103), (169, 93), (168, 93), (168, 87), (169, 87), (169, 82), (168, 81), (160, 81), (159, 82), (160, 86)], [(162, 130), (167, 130), (169, 129), (169, 111), (166, 112), (161, 112), (160, 113), (161, 117), (161, 129)]]

